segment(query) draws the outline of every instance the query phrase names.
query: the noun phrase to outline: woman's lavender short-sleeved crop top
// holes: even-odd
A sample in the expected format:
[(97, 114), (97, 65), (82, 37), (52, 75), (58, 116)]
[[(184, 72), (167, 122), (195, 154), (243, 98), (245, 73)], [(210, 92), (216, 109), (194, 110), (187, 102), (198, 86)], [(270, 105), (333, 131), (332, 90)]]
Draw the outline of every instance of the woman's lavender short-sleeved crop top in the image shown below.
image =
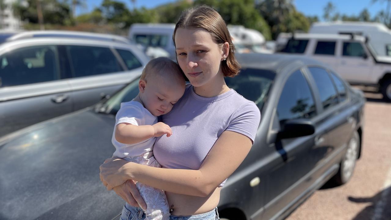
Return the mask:
[(157, 161), (165, 168), (198, 170), (222, 132), (235, 131), (254, 141), (260, 112), (254, 102), (233, 89), (207, 98), (195, 94), (188, 84), (162, 121), (171, 127), (172, 136), (156, 139), (153, 153)]

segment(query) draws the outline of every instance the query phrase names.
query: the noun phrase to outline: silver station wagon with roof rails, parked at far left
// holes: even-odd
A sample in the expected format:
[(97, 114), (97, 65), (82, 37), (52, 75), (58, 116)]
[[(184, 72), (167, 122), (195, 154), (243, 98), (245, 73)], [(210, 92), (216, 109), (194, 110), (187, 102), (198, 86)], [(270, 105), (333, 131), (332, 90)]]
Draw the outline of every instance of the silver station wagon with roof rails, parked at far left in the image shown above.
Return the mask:
[(14, 34), (0, 45), (0, 136), (108, 98), (138, 77), (148, 60), (115, 35)]

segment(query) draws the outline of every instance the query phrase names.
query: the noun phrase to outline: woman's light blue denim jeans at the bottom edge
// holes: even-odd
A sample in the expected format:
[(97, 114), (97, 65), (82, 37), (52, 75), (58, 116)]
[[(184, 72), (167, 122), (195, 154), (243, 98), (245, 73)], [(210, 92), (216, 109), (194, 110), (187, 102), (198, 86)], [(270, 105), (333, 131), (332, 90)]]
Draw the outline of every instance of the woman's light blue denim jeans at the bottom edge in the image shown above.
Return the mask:
[[(122, 209), (120, 220), (145, 220), (145, 213), (141, 208), (134, 207), (126, 203), (124, 208)], [(220, 218), (216, 207), (210, 212), (199, 214), (199, 215), (190, 215), (190, 216), (171, 215), (170, 220), (220, 220)]]

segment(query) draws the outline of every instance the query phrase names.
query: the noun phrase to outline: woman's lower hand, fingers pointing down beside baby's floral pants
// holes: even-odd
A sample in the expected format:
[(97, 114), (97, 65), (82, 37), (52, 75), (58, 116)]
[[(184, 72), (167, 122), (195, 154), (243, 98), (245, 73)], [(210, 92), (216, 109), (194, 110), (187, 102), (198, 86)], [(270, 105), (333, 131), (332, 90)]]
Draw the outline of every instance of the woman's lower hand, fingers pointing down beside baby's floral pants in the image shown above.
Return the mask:
[(129, 205), (141, 207), (143, 210), (147, 209), (147, 204), (145, 204), (133, 180), (129, 179), (124, 184), (114, 187), (113, 190)]

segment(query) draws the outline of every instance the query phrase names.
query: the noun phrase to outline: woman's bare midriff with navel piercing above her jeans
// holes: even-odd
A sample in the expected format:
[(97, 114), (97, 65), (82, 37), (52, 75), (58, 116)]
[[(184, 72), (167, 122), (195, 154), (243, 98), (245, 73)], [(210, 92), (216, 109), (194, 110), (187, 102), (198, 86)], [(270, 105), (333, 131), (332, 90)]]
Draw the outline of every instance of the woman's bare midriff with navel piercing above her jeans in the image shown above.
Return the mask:
[(220, 190), (221, 187), (216, 188), (207, 197), (181, 195), (166, 191), (169, 207), (170, 209), (174, 209), (171, 215), (189, 216), (212, 211), (219, 204)]

